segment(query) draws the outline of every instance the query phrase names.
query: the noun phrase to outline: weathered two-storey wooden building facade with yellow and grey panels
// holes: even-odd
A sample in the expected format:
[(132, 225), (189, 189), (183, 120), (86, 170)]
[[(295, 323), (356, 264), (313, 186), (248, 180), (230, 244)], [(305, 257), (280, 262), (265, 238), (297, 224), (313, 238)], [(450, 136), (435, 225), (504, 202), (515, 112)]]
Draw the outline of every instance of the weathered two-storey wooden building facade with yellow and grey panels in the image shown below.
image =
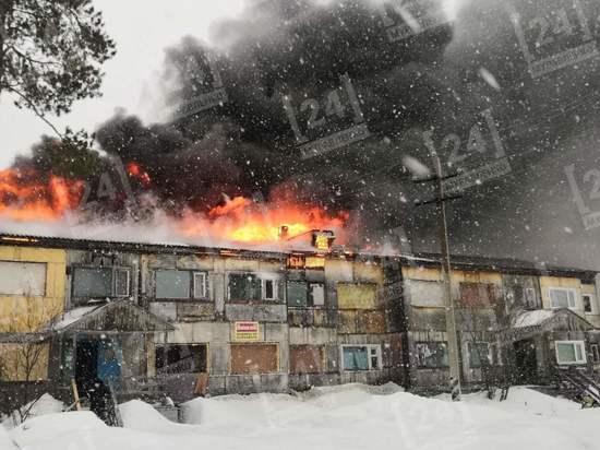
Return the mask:
[[(75, 380), (85, 395), (101, 379), (176, 401), (346, 382), (439, 392), (448, 292), (467, 387), (600, 364), (589, 271), (456, 257), (448, 291), (436, 256), (0, 238), (7, 386), (68, 396)], [(24, 336), (45, 348), (25, 379), (7, 356), (32, 345)]]

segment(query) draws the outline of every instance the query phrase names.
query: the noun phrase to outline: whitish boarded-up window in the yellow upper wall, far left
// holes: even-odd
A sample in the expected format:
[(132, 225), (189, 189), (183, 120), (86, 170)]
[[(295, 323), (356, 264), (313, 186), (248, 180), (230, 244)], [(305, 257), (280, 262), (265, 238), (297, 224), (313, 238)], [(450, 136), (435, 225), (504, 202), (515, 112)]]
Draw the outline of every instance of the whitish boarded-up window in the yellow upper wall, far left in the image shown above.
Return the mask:
[(0, 295), (46, 295), (46, 264), (0, 261)]

